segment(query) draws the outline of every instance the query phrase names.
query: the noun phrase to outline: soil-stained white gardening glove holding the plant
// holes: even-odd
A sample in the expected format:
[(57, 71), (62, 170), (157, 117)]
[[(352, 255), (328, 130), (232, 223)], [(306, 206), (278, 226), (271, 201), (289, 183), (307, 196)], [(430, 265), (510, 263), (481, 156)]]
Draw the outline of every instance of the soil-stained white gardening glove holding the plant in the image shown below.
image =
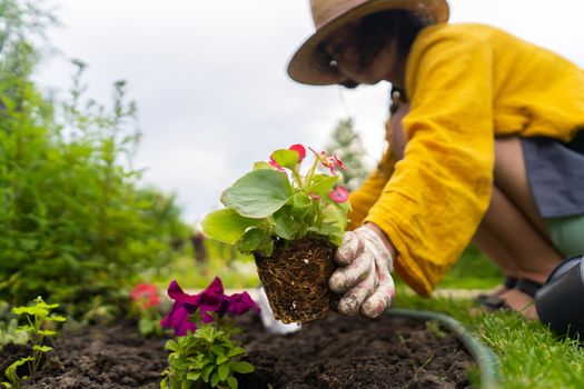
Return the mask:
[(340, 313), (352, 316), (360, 310), (376, 318), (389, 309), (395, 296), (394, 260), (375, 231), (359, 227), (346, 232), (335, 261), (340, 268), (328, 285), (334, 292), (344, 293), (337, 307)]

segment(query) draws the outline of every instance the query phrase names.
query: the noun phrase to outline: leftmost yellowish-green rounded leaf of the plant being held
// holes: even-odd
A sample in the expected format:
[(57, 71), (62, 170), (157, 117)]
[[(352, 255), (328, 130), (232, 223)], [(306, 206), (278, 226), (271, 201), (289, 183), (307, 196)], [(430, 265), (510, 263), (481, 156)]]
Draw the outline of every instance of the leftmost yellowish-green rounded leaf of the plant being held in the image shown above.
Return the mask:
[(246, 218), (231, 208), (211, 212), (202, 220), (202, 231), (212, 239), (235, 245), (249, 227), (259, 226), (264, 220)]

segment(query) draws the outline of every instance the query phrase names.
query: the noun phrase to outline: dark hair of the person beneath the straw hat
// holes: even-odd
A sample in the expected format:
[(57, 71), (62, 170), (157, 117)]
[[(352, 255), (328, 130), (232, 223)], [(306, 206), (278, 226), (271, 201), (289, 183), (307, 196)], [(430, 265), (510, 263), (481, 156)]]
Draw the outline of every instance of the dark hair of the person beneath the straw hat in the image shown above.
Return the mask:
[[(359, 66), (362, 69), (369, 67), (379, 52), (394, 41), (400, 60), (405, 61), (419, 31), (429, 24), (430, 21), (420, 14), (405, 10), (380, 11), (364, 17), (350, 39), (358, 47)], [(324, 51), (325, 44), (326, 41), (321, 43), (320, 50)], [(348, 81), (343, 86), (355, 88), (358, 83)]]

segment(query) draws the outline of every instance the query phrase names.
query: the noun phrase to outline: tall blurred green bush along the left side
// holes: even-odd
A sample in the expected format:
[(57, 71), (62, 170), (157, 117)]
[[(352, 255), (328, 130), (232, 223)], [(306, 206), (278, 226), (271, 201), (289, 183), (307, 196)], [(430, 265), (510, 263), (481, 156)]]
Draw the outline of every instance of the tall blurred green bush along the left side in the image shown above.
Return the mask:
[[(76, 61), (69, 97), (49, 101), (31, 76), (55, 19), (0, 0), (0, 300), (42, 295), (71, 313), (115, 306), (120, 289), (174, 256), (189, 229), (172, 197), (140, 187), (136, 106), (85, 100)], [(6, 27), (6, 28), (4, 28)]]

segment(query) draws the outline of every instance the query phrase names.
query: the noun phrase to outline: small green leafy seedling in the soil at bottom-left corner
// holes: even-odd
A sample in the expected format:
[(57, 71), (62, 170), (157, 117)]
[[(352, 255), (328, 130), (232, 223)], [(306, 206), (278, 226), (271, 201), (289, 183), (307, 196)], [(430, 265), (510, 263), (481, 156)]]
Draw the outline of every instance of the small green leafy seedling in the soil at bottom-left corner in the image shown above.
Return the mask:
[[(32, 377), (40, 367), (42, 356), (52, 350), (52, 347), (44, 345), (44, 341), (57, 333), (53, 328), (55, 322), (66, 321), (62, 316), (51, 313), (51, 310), (58, 307), (57, 303), (46, 303), (39, 296), (32, 306), (12, 309), (16, 315), (23, 316), (26, 319), (26, 323), (18, 330), (27, 333), (32, 355), (14, 361), (6, 369), (4, 377), (8, 378), (8, 382), (2, 382), (4, 388), (18, 387), (21, 380)], [(17, 369), (23, 365), (28, 365), (29, 376), (19, 377)]]

